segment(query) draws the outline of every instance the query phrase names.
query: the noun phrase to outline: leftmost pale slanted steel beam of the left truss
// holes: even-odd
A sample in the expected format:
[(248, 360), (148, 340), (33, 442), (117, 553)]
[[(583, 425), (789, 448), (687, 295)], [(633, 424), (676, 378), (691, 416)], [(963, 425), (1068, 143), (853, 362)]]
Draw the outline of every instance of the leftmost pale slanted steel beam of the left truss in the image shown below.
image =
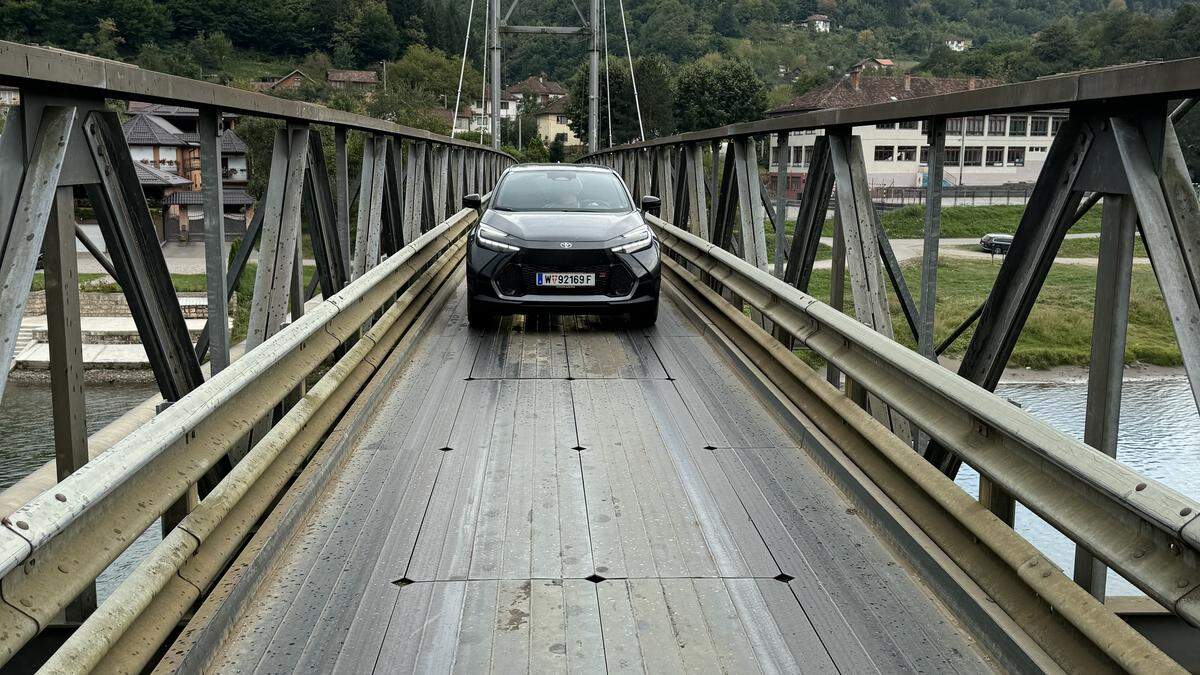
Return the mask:
[[(20, 317), (34, 281), (37, 252), (46, 237), (46, 223), (50, 217), (74, 118), (74, 108), (46, 107), (23, 178), (17, 173), (12, 179), (5, 178), (6, 181), (18, 183), (19, 189), (12, 201), (11, 220), (8, 214), (0, 214), (5, 217), (0, 233), (6, 234), (0, 240), (4, 245), (0, 250), (0, 307), (5, 309), (0, 312), (0, 396), (4, 396), (8, 369), (16, 356)], [(18, 127), (12, 125), (6, 129)], [(5, 160), (5, 169), (24, 163), (19, 156), (18, 161), (11, 156), (0, 159)]]

